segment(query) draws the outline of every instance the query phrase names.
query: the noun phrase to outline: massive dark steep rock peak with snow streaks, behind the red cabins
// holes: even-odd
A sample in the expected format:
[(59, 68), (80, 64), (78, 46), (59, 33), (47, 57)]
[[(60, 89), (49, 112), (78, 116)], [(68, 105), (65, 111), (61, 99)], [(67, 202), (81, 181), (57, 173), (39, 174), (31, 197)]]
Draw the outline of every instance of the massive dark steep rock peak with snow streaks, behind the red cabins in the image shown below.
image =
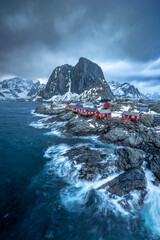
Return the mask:
[(56, 67), (46, 87), (32, 100), (97, 100), (114, 96), (107, 84), (102, 69), (86, 58), (80, 58), (73, 67), (65, 64)]

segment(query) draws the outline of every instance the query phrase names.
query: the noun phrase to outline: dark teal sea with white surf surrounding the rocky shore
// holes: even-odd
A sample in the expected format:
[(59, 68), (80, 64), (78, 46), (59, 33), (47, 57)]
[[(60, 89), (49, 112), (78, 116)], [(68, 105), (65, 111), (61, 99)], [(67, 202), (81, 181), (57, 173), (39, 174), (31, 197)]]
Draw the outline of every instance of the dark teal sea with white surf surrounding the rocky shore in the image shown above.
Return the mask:
[(112, 159), (114, 147), (96, 137), (64, 137), (57, 126), (44, 128), (42, 116), (31, 114), (39, 105), (0, 102), (0, 239), (159, 239), (158, 188), (148, 185), (145, 206), (128, 214), (96, 190), (99, 179), (87, 183), (77, 180), (76, 171), (69, 175), (61, 156), (67, 149), (87, 145)]

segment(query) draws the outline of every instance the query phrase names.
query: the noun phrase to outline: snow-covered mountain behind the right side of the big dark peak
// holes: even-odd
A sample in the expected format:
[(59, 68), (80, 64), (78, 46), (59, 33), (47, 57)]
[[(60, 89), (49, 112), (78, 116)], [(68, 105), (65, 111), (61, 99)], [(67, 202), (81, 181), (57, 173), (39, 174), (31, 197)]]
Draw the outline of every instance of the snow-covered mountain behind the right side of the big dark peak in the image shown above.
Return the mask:
[(118, 83), (118, 82), (109, 82), (108, 83), (114, 96), (116, 98), (130, 98), (130, 99), (141, 99), (146, 98), (142, 93), (139, 92), (135, 86), (129, 83)]

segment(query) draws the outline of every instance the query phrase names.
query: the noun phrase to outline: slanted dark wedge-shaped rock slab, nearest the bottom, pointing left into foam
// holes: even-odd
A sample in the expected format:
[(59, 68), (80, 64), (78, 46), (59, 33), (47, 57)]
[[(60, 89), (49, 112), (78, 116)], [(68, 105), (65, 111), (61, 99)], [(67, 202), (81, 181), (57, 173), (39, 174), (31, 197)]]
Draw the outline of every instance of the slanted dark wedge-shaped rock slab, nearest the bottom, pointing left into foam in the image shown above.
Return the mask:
[(123, 196), (134, 190), (144, 190), (146, 186), (145, 174), (141, 168), (129, 169), (110, 182), (101, 186), (117, 196)]

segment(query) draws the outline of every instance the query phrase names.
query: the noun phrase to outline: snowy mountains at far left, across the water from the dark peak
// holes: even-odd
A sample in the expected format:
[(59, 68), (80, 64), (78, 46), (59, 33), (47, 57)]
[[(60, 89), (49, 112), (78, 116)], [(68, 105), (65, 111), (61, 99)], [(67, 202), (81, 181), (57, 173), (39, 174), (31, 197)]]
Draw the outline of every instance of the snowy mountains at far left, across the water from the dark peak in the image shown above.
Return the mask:
[(0, 82), (0, 100), (15, 100), (30, 98), (39, 92), (45, 85), (39, 81), (11, 78)]

